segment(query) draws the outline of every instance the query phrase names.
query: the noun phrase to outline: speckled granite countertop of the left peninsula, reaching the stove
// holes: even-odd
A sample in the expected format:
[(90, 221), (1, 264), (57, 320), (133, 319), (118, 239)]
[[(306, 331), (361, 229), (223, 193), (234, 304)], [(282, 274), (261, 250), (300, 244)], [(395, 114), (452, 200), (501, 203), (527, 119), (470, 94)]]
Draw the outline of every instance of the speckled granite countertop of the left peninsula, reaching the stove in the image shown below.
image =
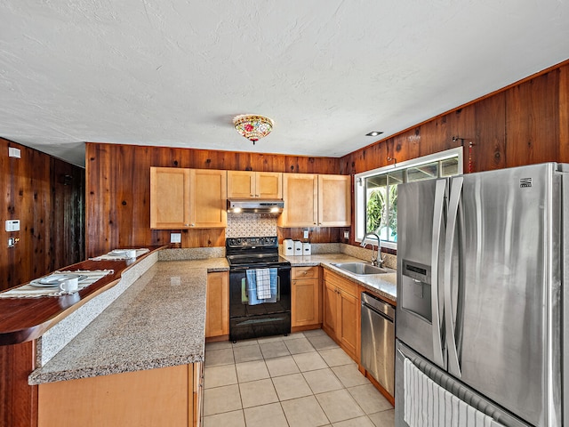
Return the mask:
[(207, 272), (225, 270), (225, 258), (156, 262), (28, 383), (204, 361)]

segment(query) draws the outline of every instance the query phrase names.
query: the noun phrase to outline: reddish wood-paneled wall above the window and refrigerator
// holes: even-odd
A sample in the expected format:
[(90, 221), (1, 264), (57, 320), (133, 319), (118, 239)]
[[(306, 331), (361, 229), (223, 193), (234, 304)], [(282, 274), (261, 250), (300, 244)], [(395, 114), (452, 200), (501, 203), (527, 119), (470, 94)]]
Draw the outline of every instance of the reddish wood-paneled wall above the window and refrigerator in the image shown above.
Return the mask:
[[(569, 162), (569, 60), (341, 158), (361, 173), (461, 145), (464, 171)], [(469, 142), (474, 145), (469, 148)], [(389, 158), (389, 159), (388, 159)]]

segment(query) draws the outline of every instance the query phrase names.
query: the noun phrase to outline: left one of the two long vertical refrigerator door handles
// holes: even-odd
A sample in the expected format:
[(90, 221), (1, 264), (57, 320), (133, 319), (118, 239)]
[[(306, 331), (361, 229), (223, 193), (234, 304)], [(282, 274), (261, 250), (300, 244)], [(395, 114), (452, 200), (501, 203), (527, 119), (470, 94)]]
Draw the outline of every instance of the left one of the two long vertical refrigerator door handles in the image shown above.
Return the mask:
[(430, 262), (430, 288), (431, 288), (431, 313), (432, 313), (432, 332), (433, 332), (433, 361), (439, 367), (445, 367), (445, 357), (443, 355), (443, 342), (441, 340), (442, 318), (441, 307), (444, 307), (444, 294), (440, 292), (438, 280), (438, 254), (440, 252), (443, 212), (445, 207), (446, 180), (437, 181), (435, 187), (435, 206), (433, 211), (433, 238), (431, 247)]

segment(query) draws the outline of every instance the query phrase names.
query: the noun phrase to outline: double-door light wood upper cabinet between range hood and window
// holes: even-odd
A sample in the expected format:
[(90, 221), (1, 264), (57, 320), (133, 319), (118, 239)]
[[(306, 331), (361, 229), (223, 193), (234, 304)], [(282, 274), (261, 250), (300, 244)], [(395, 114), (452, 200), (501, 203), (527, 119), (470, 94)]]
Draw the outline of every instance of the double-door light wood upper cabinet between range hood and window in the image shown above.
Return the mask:
[(345, 227), (351, 223), (349, 175), (283, 173), (279, 227)]

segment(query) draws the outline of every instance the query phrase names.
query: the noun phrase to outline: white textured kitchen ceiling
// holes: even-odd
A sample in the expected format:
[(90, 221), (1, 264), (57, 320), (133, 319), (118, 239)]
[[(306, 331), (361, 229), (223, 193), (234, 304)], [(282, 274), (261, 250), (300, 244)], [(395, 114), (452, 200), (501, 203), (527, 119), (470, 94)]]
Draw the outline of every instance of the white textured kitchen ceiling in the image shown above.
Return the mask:
[[(0, 136), (339, 157), (569, 58), (566, 0), (0, 0)], [(253, 147), (237, 114), (275, 120)]]

